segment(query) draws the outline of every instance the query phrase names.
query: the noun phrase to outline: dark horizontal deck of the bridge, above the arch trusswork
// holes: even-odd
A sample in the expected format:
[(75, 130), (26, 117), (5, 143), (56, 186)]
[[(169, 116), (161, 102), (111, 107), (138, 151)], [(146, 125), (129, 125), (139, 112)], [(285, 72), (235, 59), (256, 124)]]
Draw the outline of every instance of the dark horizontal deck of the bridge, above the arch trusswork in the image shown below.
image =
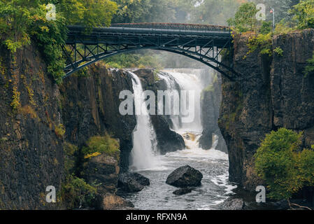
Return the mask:
[[(209, 40), (214, 40), (214, 45), (217, 48), (223, 48), (227, 41), (231, 39), (230, 30), (227, 27), (213, 27), (201, 25), (205, 27), (201, 29), (182, 29), (179, 25), (169, 27), (155, 25), (148, 28), (148, 24), (129, 24), (129, 25), (113, 25), (113, 27), (94, 28), (91, 34), (84, 34), (84, 27), (70, 26), (68, 39), (66, 44), (74, 44), (78, 42), (78, 37), (81, 42), (87, 45), (95, 43), (106, 43), (110, 45), (138, 45), (140, 38), (145, 38), (141, 43), (146, 46), (155, 45), (157, 43), (167, 43), (167, 46), (176, 46), (185, 44), (186, 47), (195, 47), (196, 45), (205, 45)], [(173, 41), (173, 38), (178, 38), (178, 41)], [(195, 39), (191, 43), (189, 40)]]

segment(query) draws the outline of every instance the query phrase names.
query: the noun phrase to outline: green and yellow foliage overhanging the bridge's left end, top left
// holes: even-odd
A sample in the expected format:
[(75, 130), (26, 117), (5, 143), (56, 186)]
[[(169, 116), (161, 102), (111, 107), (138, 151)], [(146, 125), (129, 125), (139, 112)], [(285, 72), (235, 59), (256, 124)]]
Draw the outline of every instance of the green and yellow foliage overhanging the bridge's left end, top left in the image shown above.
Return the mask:
[[(48, 3), (55, 3), (55, 20)], [(66, 38), (66, 25), (84, 25), (87, 31), (93, 26), (110, 25), (117, 10), (109, 0), (2, 0), (0, 1), (0, 44), (13, 54), (33, 39), (41, 48), (48, 64), (48, 72), (61, 81), (64, 59), (61, 44)]]

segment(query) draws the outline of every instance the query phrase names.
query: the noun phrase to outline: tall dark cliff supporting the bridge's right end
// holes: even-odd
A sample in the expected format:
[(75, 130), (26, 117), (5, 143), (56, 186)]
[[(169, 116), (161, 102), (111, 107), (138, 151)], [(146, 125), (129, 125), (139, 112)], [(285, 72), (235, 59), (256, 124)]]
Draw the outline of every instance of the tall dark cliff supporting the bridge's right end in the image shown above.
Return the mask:
[[(232, 62), (241, 80), (222, 78), (219, 126), (229, 149), (230, 180), (255, 190), (261, 181), (253, 158), (261, 139), (279, 127), (304, 131), (304, 147), (314, 144), (314, 78), (304, 75), (313, 55), (314, 30), (274, 36), (272, 48), (283, 55), (247, 55), (248, 36), (236, 36)], [(246, 59), (243, 57), (247, 55)]]

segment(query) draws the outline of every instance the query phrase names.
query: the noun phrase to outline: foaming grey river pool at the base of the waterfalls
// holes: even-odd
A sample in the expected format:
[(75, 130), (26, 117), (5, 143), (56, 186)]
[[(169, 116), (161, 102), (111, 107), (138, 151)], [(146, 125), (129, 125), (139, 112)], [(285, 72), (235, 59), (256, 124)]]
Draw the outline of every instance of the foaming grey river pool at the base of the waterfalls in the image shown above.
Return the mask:
[[(187, 137), (187, 135), (185, 135)], [(185, 144), (190, 149), (159, 155), (159, 162), (164, 169), (138, 172), (150, 179), (150, 186), (141, 192), (122, 195), (132, 202), (136, 209), (194, 210), (215, 209), (232, 193), (236, 186), (228, 181), (228, 155), (214, 148), (205, 151), (198, 148), (198, 137), (189, 133)], [(178, 167), (190, 165), (203, 174), (201, 186), (193, 188), (187, 195), (173, 195), (177, 190), (166, 184), (167, 176)]]

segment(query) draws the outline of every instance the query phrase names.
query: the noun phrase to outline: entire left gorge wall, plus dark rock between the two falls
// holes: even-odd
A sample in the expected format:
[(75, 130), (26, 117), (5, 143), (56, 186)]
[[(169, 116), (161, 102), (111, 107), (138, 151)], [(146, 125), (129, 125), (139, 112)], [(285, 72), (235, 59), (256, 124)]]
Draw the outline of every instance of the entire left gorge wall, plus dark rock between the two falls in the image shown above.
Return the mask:
[[(129, 167), (136, 127), (136, 116), (119, 112), (120, 92), (133, 92), (128, 71), (100, 62), (57, 85), (35, 45), (16, 55), (0, 52), (0, 209), (73, 209), (78, 204), (60, 196), (73, 188), (68, 183), (72, 173), (88, 184), (100, 183), (98, 209), (131, 206), (115, 196), (118, 175)], [(148, 80), (153, 72), (140, 73)], [(159, 139), (164, 134), (171, 139), (159, 141), (164, 153), (184, 148), (166, 121), (155, 120), (155, 128)], [(119, 155), (85, 159), (87, 141), (105, 133), (118, 139)], [(45, 201), (47, 186), (55, 186), (57, 203)]]

